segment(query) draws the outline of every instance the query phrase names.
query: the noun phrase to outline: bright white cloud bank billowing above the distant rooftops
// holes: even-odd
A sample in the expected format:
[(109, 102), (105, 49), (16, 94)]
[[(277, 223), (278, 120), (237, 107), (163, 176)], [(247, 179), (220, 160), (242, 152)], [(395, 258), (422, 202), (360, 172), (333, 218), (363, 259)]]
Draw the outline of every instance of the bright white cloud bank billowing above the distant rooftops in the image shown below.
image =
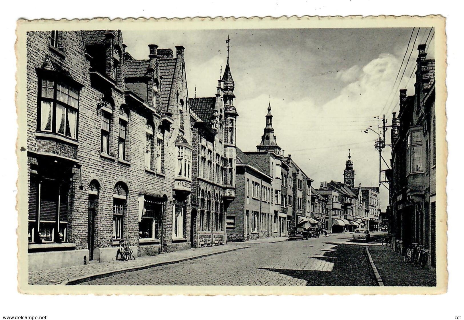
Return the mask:
[[(374, 140), (378, 136), (372, 131), (368, 134), (363, 131), (371, 125), (378, 131), (379, 122), (374, 117), (380, 115), (388, 96), (397, 99), (398, 93), (390, 93), (399, 66), (400, 61), (395, 56), (381, 54), (362, 68), (348, 69), (349, 72), (337, 75), (337, 78), (347, 80), (351, 77), (352, 81), (337, 97), (322, 106), (315, 105), (311, 97), (298, 101), (271, 98), (277, 143), (286, 155), (292, 154), (292, 158), (315, 180), (316, 187), (321, 181), (343, 181), (348, 149), (351, 149), (356, 170), (355, 183), (378, 185), (379, 154), (374, 149)], [(402, 84), (406, 82), (404, 79)], [(251, 100), (238, 100), (237, 142), (241, 149), (256, 150), (265, 126), (268, 101), (265, 94)], [(386, 113), (386, 118), (391, 119), (391, 113)], [(383, 152), (387, 161), (390, 151), (387, 147)], [(382, 169), (385, 169), (383, 164)], [(385, 208), (387, 189), (380, 189), (382, 207)]]

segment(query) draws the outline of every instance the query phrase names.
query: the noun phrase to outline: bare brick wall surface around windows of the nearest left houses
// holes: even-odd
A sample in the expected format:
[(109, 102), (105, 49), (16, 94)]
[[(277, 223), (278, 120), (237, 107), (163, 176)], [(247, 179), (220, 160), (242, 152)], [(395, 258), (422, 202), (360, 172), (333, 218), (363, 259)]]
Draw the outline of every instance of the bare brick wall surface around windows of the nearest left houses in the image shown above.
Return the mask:
[[(117, 182), (127, 185), (129, 190), (127, 196), (126, 212), (124, 216), (123, 236), (128, 238), (131, 245), (138, 245), (138, 210), (139, 195), (165, 195), (168, 198), (163, 226), (163, 242), (166, 243), (168, 251), (190, 247), (190, 197), (187, 196), (187, 210), (185, 215), (185, 234), (187, 240), (183, 243), (172, 242), (173, 222), (173, 188), (175, 163), (177, 161), (177, 149), (175, 139), (179, 134), (179, 112), (173, 112), (175, 124), (165, 128), (164, 142), (164, 170), (161, 174), (155, 174), (145, 170), (145, 125), (147, 119), (152, 119), (155, 128), (161, 125), (161, 120), (153, 114), (147, 113), (140, 108), (131, 108), (126, 104), (122, 94), (124, 91), (123, 81), (117, 84), (118, 89), (110, 89), (103, 94), (97, 90), (90, 79), (90, 62), (85, 58), (84, 45), (80, 32), (63, 32), (62, 51), (64, 57), (51, 50), (48, 46), (48, 32), (31, 32), (27, 34), (27, 149), (29, 151), (46, 151), (56, 155), (77, 159), (81, 165), (80, 173), (74, 170), (68, 206), (68, 241), (76, 243), (76, 248), (87, 248), (88, 235), (88, 195), (89, 184), (97, 180), (100, 185), (97, 200), (97, 214), (95, 218), (95, 247), (111, 247), (112, 242), (112, 211), (113, 211), (113, 189)], [(116, 37), (116, 44), (122, 46), (122, 38)], [(57, 60), (63, 69), (67, 70), (71, 77), (83, 84), (79, 95), (79, 117), (77, 144), (69, 144), (56, 139), (41, 139), (35, 137), (37, 129), (37, 96), (38, 76), (36, 68), (40, 68), (46, 57), (50, 56)], [(183, 59), (182, 59), (183, 61)], [(123, 61), (121, 61), (121, 69)], [(182, 65), (182, 64), (180, 64)], [(121, 75), (123, 79), (123, 75)], [(180, 96), (187, 101), (187, 85), (185, 71), (176, 71), (175, 80)], [(122, 92), (121, 92), (122, 91)], [(97, 102), (106, 99), (110, 101), (112, 109), (110, 126), (110, 157), (102, 157), (100, 153), (101, 137), (101, 111)], [(129, 121), (127, 125), (126, 138), (126, 161), (119, 162), (118, 135), (119, 116), (121, 107), (128, 107)], [(177, 108), (174, 108), (176, 110)], [(185, 114), (185, 128), (182, 134), (189, 143), (192, 142), (190, 120)], [(29, 163), (36, 162), (34, 158)], [(28, 180), (30, 179), (30, 170)], [(160, 244), (140, 245), (139, 252), (144, 254), (156, 253)]]

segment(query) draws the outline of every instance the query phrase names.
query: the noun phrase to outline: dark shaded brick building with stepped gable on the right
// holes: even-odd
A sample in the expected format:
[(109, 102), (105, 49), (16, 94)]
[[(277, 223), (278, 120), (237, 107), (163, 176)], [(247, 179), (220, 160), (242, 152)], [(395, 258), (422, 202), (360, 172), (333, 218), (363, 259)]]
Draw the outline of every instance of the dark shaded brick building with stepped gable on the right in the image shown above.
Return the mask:
[(436, 266), (435, 60), (418, 46), (415, 92), (400, 90), (400, 111), (392, 119), (390, 229), (395, 250), (411, 243), (429, 250)]

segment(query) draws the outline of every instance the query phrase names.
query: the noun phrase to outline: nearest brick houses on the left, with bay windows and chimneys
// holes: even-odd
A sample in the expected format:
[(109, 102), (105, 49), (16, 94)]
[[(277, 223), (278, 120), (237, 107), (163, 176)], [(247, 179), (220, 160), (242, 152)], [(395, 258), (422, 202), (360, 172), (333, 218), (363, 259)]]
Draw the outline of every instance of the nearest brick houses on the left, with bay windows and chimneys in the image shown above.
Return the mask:
[(184, 48), (148, 47), (135, 60), (121, 31), (27, 34), (30, 270), (113, 260), (122, 238), (135, 255), (190, 248)]

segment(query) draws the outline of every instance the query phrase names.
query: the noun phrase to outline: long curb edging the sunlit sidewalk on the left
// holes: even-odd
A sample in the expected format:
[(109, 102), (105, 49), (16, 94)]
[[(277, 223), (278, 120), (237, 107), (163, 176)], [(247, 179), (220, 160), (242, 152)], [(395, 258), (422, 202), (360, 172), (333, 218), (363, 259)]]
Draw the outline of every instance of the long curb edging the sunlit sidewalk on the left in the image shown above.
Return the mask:
[(59, 283), (57, 285), (58, 286), (72, 286), (72, 285), (76, 285), (76, 284), (91, 281), (91, 280), (96, 280), (96, 279), (100, 279), (100, 278), (109, 277), (111, 275), (122, 274), (122, 273), (126, 273), (126, 272), (138, 271), (138, 270), (154, 268), (154, 267), (160, 267), (160, 266), (164, 266), (164, 265), (168, 265), (168, 264), (174, 264), (174, 263), (179, 263), (179, 262), (184, 262), (184, 261), (189, 261), (189, 260), (194, 260), (194, 259), (200, 259), (200, 258), (204, 258), (204, 257), (210, 256), (210, 255), (219, 255), (221, 253), (241, 250), (241, 249), (245, 249), (245, 248), (250, 248), (250, 246), (232, 248), (232, 249), (227, 249), (227, 250), (208, 253), (208, 254), (194, 255), (192, 257), (187, 257), (187, 258), (182, 258), (182, 259), (174, 259), (174, 260), (163, 261), (163, 262), (154, 262), (154, 263), (152, 262), (152, 263), (148, 263), (148, 264), (137, 266), (137, 267), (129, 267), (129, 268), (118, 269), (118, 270), (104, 271), (104, 272), (99, 272), (99, 273), (96, 273), (96, 274), (87, 274), (87, 275), (83, 275), (83, 276), (79, 276), (79, 277), (70, 278), (68, 280), (64, 280), (64, 281), (62, 281), (61, 283)]

